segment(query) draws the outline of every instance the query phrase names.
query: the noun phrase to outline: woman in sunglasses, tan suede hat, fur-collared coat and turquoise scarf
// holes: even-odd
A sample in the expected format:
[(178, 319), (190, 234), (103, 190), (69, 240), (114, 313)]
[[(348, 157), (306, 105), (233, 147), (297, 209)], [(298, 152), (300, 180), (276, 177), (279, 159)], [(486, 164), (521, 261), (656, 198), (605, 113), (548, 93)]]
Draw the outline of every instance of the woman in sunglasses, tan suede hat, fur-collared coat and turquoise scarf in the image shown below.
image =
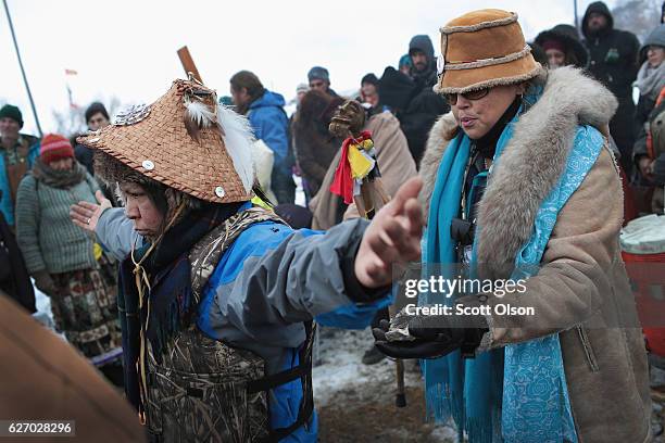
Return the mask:
[(377, 346), (426, 358), (429, 414), (469, 442), (649, 441), (606, 139), (616, 99), (572, 66), (545, 74), (511, 12), (451, 21), (441, 54), (452, 113), (421, 167), (423, 264), (451, 286), (421, 292), (436, 315), (411, 306), (375, 329)]

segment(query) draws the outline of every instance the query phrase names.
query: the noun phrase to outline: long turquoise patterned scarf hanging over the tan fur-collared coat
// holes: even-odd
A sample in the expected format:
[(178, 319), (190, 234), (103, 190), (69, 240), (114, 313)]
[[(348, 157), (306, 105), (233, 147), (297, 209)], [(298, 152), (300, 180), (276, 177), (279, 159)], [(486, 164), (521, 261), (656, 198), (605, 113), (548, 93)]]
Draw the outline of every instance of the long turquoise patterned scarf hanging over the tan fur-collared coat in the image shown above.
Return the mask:
[[(539, 94), (540, 91), (536, 91), (527, 99), (535, 102)], [(499, 138), (494, 167), (513, 136), (518, 116), (519, 113)], [(515, 270), (511, 279), (526, 279), (535, 273), (556, 223), (556, 215), (595, 163), (603, 143), (598, 130), (582, 126), (578, 128), (566, 168), (541, 203), (531, 238), (515, 256)], [(460, 207), (469, 152), (470, 140), (461, 132), (443, 153), (424, 239), (423, 269), (426, 276), (435, 264), (456, 261), (450, 226)], [(474, 244), (472, 270), (477, 245)], [(443, 278), (452, 279), (455, 277), (452, 270), (451, 266), (441, 266), (439, 271)], [(421, 298), (419, 304), (451, 305), (457, 294), (452, 295), (426, 294)], [(424, 360), (423, 370), (428, 415), (437, 421), (452, 417), (457, 425), (460, 439), (467, 432), (472, 443), (577, 442), (559, 334), (484, 352), (472, 359), (462, 358), (455, 351), (442, 358)]]

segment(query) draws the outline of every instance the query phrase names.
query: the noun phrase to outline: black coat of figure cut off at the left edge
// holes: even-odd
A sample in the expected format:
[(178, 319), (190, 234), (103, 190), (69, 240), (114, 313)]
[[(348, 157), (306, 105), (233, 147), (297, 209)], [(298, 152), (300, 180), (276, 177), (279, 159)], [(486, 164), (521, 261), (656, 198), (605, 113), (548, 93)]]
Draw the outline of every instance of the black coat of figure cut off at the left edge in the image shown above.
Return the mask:
[(29, 314), (37, 312), (35, 290), (16, 238), (0, 212), (0, 291)]

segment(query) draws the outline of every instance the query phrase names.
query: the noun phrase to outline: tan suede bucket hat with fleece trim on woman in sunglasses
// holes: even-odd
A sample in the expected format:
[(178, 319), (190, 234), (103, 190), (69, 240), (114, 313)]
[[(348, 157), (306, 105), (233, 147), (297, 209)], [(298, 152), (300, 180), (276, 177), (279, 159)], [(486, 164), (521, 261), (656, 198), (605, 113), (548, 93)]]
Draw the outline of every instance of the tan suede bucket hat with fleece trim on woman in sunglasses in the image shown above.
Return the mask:
[(440, 31), (437, 92), (463, 93), (513, 85), (542, 72), (513, 12), (495, 9), (469, 12), (449, 22)]

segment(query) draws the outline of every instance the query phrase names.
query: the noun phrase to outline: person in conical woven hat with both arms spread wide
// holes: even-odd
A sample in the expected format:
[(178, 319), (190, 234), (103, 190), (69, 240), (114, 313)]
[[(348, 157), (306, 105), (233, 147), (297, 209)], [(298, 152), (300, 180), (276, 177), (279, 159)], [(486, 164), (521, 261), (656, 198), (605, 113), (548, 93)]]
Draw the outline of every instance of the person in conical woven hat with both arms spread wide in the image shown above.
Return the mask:
[(252, 207), (248, 122), (195, 81), (78, 139), (125, 207), (72, 218), (121, 265), (125, 388), (155, 441), (315, 442), (312, 320), (364, 327), (419, 257), (415, 178), (369, 225), (289, 228)]

